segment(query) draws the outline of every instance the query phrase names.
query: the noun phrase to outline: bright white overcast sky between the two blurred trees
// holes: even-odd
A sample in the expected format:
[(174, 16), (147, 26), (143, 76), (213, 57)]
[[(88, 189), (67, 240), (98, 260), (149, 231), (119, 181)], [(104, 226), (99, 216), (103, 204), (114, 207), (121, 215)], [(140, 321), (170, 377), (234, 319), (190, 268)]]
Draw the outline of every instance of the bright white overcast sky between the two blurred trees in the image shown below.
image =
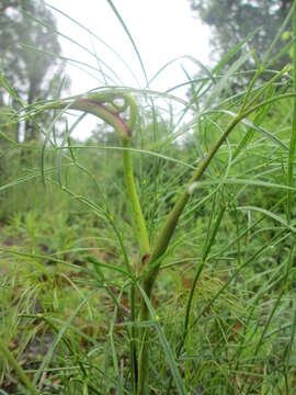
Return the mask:
[[(91, 35), (52, 9), (58, 31), (72, 41), (59, 37), (62, 55), (77, 60), (76, 66), (67, 66), (67, 74), (71, 78), (71, 94), (80, 94), (105, 83), (147, 87), (135, 49), (106, 0), (46, 0), (46, 3), (93, 33)], [(113, 3), (133, 36), (148, 80), (167, 63), (184, 55), (208, 64), (209, 31), (196, 15), (193, 16), (189, 0), (113, 0)], [(163, 92), (186, 81), (185, 72), (193, 77), (198, 71), (200, 67), (195, 63), (181, 58), (166, 68), (149, 88)], [(185, 90), (178, 94), (184, 95)], [(95, 124), (96, 120), (88, 115), (75, 136), (87, 137), (90, 135), (87, 131), (91, 131)]]

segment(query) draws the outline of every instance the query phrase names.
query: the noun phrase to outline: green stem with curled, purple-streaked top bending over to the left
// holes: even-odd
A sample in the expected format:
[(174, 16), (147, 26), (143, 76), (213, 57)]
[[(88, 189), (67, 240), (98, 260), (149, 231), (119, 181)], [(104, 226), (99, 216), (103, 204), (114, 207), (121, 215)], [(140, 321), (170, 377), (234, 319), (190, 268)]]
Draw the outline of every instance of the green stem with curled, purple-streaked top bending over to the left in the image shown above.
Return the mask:
[[(116, 99), (122, 99), (123, 104), (117, 104)], [(121, 113), (129, 106), (129, 119), (125, 122), (121, 117)], [(58, 101), (46, 104), (44, 109), (73, 109), (80, 110), (93, 115), (96, 115), (101, 120), (105, 121), (109, 125), (113, 126), (118, 133), (123, 145), (123, 168), (125, 177), (125, 187), (127, 201), (130, 203), (132, 217), (134, 221), (136, 238), (140, 248), (141, 262), (145, 262), (150, 253), (150, 245), (148, 233), (146, 228), (145, 218), (141, 212), (139, 198), (134, 179), (133, 160), (130, 154), (132, 146), (132, 132), (135, 128), (137, 104), (132, 95), (126, 92), (105, 91), (91, 93), (86, 97), (77, 98), (76, 100), (68, 99), (66, 101)], [(129, 274), (133, 274), (132, 267), (127, 264)], [(135, 284), (132, 283), (129, 292), (130, 303), (130, 320), (136, 320), (136, 306), (135, 306)], [(137, 354), (136, 354), (136, 329), (132, 326), (132, 340), (130, 340), (130, 365), (132, 365), (132, 386), (134, 393), (137, 391)]]

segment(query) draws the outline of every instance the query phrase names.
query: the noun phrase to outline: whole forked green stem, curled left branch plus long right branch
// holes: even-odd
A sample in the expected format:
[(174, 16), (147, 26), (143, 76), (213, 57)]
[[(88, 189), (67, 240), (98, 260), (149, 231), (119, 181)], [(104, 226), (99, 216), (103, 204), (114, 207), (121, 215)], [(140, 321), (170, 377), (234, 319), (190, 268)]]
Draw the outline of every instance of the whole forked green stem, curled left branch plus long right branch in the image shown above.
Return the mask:
[[(249, 90), (251, 91), (251, 89)], [(116, 103), (116, 99), (123, 99), (124, 103), (123, 105), (118, 105)], [(123, 151), (123, 162), (124, 162), (124, 172), (125, 172), (125, 183), (126, 183), (126, 193), (127, 193), (127, 200), (130, 203), (132, 206), (132, 216), (135, 224), (136, 229), (136, 237), (139, 242), (140, 247), (140, 253), (143, 263), (145, 263), (144, 271), (143, 271), (143, 287), (148, 296), (148, 298), (151, 297), (152, 287), (155, 284), (155, 281), (157, 279), (160, 264), (161, 264), (161, 258), (167, 251), (167, 248), (169, 246), (169, 242), (171, 240), (171, 237), (174, 233), (174, 229), (177, 227), (177, 224), (180, 219), (180, 216), (182, 215), (184, 207), (192, 194), (193, 189), (196, 187), (196, 182), (202, 178), (205, 170), (207, 169), (208, 165), (210, 163), (212, 159), (215, 157), (216, 153), (218, 151), (219, 147), (223, 145), (223, 143), (227, 139), (228, 135), (231, 133), (231, 131), (236, 127), (236, 125), (242, 121), (246, 116), (251, 114), (252, 112), (257, 111), (258, 109), (261, 109), (264, 105), (274, 103), (282, 99), (287, 98), (295, 98), (295, 92), (282, 94), (276, 98), (272, 98), (265, 101), (262, 101), (261, 103), (253, 105), (253, 106), (247, 106), (247, 102), (243, 102), (242, 108), (238, 112), (238, 114), (232, 119), (232, 121), (229, 123), (228, 127), (224, 132), (224, 134), (220, 136), (220, 138), (213, 145), (208, 154), (204, 157), (204, 159), (200, 162), (197, 169), (193, 173), (190, 182), (185, 185), (185, 191), (179, 200), (177, 201), (173, 210), (168, 215), (163, 227), (159, 232), (155, 247), (150, 253), (150, 246), (149, 246), (149, 239), (147, 235), (146, 229), (146, 223), (145, 218), (141, 212), (139, 199), (136, 191), (135, 180), (134, 180), (134, 171), (133, 171), (133, 162), (132, 162), (132, 156), (130, 156), (130, 142), (132, 142), (132, 132), (135, 127), (135, 121), (136, 121), (136, 112), (137, 112), (137, 105), (134, 101), (134, 99), (126, 93), (123, 92), (99, 92), (89, 94), (84, 98), (77, 98), (76, 100), (68, 100), (64, 102), (54, 102), (49, 104), (45, 104), (42, 110), (45, 109), (75, 109), (80, 111), (86, 111), (89, 113), (92, 113), (103, 121), (105, 121), (107, 124), (114, 127), (114, 129), (119, 134), (124, 147)], [(253, 101), (251, 102), (253, 103)], [(126, 123), (119, 114), (125, 111), (129, 106), (129, 121)], [(34, 108), (33, 108), (34, 111)], [(130, 318), (133, 321), (135, 321), (135, 286), (132, 285), (130, 287)], [(145, 321), (149, 318), (149, 311), (147, 307), (147, 304), (145, 303), (144, 298), (140, 300), (140, 320)], [(134, 331), (135, 335), (135, 331)], [(135, 338), (133, 335), (133, 339)], [(147, 329), (140, 329), (140, 356), (139, 356), (139, 372), (138, 372), (138, 385), (137, 386), (137, 394), (144, 395), (147, 386), (147, 374), (148, 374), (148, 330)], [(135, 359), (135, 346), (133, 343), (133, 352), (132, 352), (132, 360), (133, 363), (136, 361)], [(136, 377), (136, 369), (134, 370), (134, 377)]]

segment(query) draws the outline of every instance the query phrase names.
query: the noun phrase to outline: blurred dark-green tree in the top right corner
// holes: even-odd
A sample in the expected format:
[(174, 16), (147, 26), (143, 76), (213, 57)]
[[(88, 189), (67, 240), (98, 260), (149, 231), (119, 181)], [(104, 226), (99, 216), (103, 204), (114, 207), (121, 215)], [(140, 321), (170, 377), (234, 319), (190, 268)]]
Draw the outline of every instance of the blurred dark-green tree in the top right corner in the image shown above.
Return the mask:
[[(225, 55), (251, 32), (260, 29), (252, 38), (252, 46), (260, 57), (264, 55), (272, 40), (286, 18), (293, 0), (190, 0), (194, 12), (213, 29), (212, 46), (215, 53)], [(283, 48), (281, 41), (274, 48)], [(288, 55), (281, 57), (273, 68), (281, 69)], [(252, 68), (247, 64), (247, 68)]]

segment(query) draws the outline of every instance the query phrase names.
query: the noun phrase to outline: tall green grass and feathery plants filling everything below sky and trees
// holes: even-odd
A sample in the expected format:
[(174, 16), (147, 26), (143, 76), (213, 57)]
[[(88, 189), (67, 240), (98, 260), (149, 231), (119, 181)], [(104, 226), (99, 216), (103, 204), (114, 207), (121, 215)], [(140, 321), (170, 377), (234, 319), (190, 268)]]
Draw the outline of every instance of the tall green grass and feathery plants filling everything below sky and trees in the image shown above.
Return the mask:
[(132, 142), (102, 109), (119, 133), (57, 138), (55, 113), (41, 142), (8, 139), (50, 106), (89, 111), (81, 97), (2, 127), (1, 393), (293, 394), (295, 67), (272, 70), (271, 50), (246, 76), (243, 42), (185, 74), (186, 100), (151, 91), (110, 4), (147, 89), (88, 94), (133, 95)]

